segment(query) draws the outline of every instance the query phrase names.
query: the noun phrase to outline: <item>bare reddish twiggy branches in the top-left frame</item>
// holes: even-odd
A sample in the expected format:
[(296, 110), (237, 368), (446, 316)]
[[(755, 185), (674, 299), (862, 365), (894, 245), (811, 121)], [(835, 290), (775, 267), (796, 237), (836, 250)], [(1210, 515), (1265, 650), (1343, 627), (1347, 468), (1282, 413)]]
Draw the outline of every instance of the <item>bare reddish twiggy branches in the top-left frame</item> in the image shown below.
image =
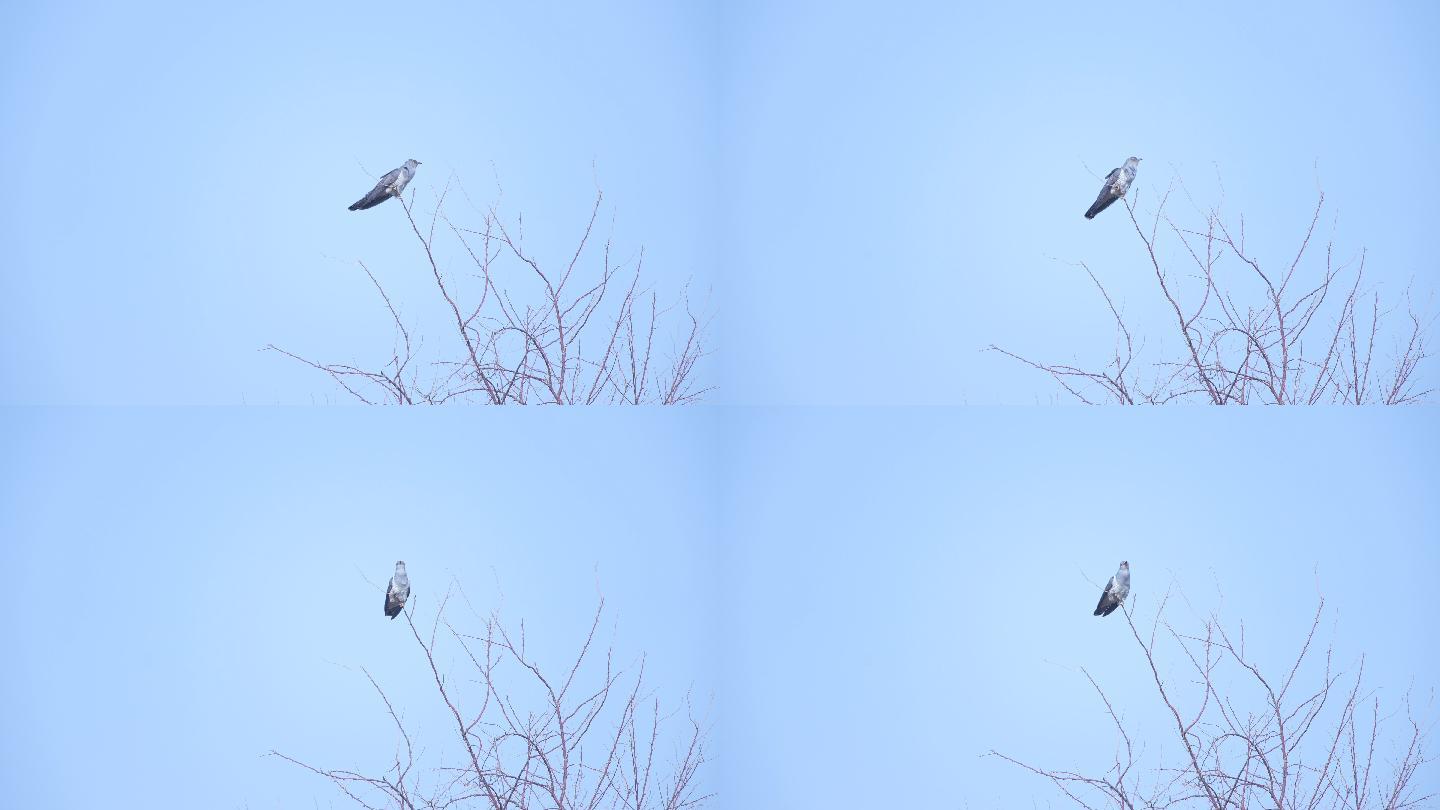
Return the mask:
[[(691, 308), (688, 287), (662, 303), (641, 284), (644, 249), (619, 258), (611, 239), (599, 242), (603, 192), (596, 190), (573, 252), (552, 262), (526, 245), (523, 218), (507, 223), (497, 205), (478, 229), (452, 221), (445, 209), (452, 189), (459, 189), (454, 179), (420, 219), (413, 192), (409, 202), (399, 197), (446, 311), (446, 323), (431, 326), (446, 336), (436, 349), (422, 357), (419, 331), (364, 262), (357, 264), (393, 324), (389, 360), (325, 363), (266, 349), (330, 375), (364, 404), (680, 405), (708, 393), (696, 376), (708, 353), (707, 316)], [(469, 271), (442, 271), (442, 246)]]

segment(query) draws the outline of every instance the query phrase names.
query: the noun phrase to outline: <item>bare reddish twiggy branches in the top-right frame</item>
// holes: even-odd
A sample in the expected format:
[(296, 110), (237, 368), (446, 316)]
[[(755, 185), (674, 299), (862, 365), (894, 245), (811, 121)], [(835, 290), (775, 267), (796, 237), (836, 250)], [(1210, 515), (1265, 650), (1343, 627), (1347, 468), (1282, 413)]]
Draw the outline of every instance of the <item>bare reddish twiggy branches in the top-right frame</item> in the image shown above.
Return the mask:
[[(1364, 287), (1365, 252), (1341, 261), (1333, 241), (1315, 248), (1325, 208), (1319, 195), (1309, 226), (1290, 258), (1261, 258), (1246, 245), (1246, 221), (1220, 209), (1197, 228), (1176, 222), (1166, 205), (1179, 182), (1159, 197), (1153, 215), (1136, 216), (1140, 190), (1125, 200), (1145, 264), (1171, 316), (1178, 342), (1169, 356), (1142, 362), (1138, 337), (1087, 262), (1079, 262), (1115, 320), (1115, 352), (1104, 363), (1051, 363), (991, 346), (1051, 375), (1086, 404), (1384, 404), (1424, 401), (1416, 370), (1428, 357), (1426, 323), (1404, 295), (1395, 307)], [(1161, 259), (1171, 249), (1188, 259), (1181, 274)]]

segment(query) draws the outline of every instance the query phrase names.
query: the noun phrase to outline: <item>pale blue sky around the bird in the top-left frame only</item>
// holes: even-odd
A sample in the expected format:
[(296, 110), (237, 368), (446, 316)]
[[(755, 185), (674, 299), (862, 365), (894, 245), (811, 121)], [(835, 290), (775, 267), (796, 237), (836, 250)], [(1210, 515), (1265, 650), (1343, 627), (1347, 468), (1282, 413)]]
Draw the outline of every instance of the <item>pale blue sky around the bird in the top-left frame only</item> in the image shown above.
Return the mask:
[[(0, 55), (0, 396), (40, 404), (341, 399), (259, 349), (383, 363), (439, 323), (395, 203), (346, 210), (409, 157), (481, 226), (526, 216), (569, 259), (645, 248), (661, 294), (714, 282), (716, 10), (664, 3), (6, 3)], [(497, 180), (504, 195), (497, 192)], [(461, 272), (459, 248), (442, 267)], [(710, 301), (714, 308), (714, 301)], [(441, 329), (425, 330), (438, 343)]]

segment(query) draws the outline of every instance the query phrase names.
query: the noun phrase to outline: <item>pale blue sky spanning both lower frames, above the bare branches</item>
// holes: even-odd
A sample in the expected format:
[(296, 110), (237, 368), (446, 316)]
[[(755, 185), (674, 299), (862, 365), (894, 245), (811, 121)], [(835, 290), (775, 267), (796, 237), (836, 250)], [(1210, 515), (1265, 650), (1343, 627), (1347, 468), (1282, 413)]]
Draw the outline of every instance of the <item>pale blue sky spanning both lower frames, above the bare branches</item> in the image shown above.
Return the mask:
[(262, 755), (390, 755), (361, 666), (448, 728), (380, 615), (396, 558), (422, 615), (458, 581), (556, 659), (603, 591), (618, 659), (711, 709), (717, 809), (1043, 807), (982, 754), (1100, 764), (1079, 667), (1158, 745), (1126, 628), (1090, 615), (1120, 559), (1139, 615), (1174, 588), (1176, 626), (1218, 610), (1270, 666), (1323, 594), (1338, 666), (1434, 721), (1433, 412), (467, 414), (9, 409), (6, 794), (346, 806)]

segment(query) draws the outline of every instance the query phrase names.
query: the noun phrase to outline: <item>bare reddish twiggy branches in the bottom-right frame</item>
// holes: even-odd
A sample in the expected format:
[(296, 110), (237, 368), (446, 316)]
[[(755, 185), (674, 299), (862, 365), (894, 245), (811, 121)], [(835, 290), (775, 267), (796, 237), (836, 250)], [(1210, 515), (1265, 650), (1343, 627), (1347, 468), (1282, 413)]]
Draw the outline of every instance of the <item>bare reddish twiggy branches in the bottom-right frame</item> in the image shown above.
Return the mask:
[[(1168, 601), (1169, 594), (1148, 633), (1136, 627), (1130, 607), (1123, 611), (1139, 651), (1135, 664), (1148, 670), (1153, 686), (1143, 699), (1159, 700), (1169, 718), (1166, 744), (1178, 742), (1169, 748), (1152, 741), (1153, 748), (1175, 751), (1172, 761), (1143, 764), (1148, 747), (1122, 721), (1126, 706), (1117, 708), (1113, 693), (1083, 667), (1115, 726), (1115, 757), (1106, 771), (989, 755), (1050, 780), (1087, 809), (1404, 810), (1436, 798), (1416, 780), (1430, 758), (1408, 695), (1401, 731), (1392, 735), (1387, 724), (1395, 713), (1382, 712), (1380, 698), (1364, 686), (1364, 657), (1345, 673), (1336, 669), (1332, 647), (1316, 649), (1323, 600), (1295, 662), (1282, 672), (1263, 669), (1246, 649), (1243, 624), (1231, 631), (1211, 617), (1198, 633), (1182, 631), (1164, 618)], [(1316, 670), (1320, 654), (1323, 666)], [(1176, 667), (1188, 675), (1171, 675)]]

